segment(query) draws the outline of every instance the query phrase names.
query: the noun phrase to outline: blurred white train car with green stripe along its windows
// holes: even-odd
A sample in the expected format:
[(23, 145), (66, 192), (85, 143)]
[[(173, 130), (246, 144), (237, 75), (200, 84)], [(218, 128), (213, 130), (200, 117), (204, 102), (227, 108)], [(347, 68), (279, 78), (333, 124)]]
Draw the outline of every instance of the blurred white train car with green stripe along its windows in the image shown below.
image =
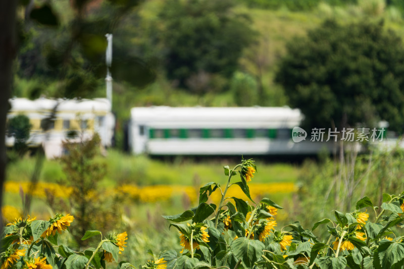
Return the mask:
[[(134, 107), (128, 128), (133, 154), (317, 154), (329, 143), (292, 141), (304, 116), (289, 107)], [(310, 139), (309, 139), (310, 140)]]

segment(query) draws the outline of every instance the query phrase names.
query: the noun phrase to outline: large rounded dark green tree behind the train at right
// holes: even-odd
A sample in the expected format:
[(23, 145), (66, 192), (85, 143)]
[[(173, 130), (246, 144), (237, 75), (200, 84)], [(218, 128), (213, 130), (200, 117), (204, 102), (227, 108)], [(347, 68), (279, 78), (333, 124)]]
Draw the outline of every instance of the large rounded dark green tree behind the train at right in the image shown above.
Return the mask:
[(404, 48), (383, 23), (324, 22), (288, 43), (276, 81), (306, 127), (386, 120), (404, 131)]

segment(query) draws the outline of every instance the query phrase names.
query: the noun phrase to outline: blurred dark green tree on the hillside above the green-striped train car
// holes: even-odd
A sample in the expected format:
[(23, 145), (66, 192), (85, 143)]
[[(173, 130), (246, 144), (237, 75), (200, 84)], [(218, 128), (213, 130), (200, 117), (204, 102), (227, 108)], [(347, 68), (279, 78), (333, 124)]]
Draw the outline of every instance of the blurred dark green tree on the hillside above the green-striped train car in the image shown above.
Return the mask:
[(166, 2), (160, 17), (169, 79), (190, 88), (188, 84), (207, 74), (232, 76), (243, 48), (255, 36), (248, 19), (233, 7), (231, 0)]

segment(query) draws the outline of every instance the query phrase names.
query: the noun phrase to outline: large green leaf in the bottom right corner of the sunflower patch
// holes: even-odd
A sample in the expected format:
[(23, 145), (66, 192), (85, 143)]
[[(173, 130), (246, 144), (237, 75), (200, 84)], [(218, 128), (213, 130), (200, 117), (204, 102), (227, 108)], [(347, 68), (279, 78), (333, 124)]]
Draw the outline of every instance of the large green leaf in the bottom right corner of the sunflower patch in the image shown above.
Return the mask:
[(379, 259), (381, 261), (382, 268), (390, 268), (396, 263), (404, 261), (404, 244), (391, 242), (387, 239), (380, 241), (379, 244)]

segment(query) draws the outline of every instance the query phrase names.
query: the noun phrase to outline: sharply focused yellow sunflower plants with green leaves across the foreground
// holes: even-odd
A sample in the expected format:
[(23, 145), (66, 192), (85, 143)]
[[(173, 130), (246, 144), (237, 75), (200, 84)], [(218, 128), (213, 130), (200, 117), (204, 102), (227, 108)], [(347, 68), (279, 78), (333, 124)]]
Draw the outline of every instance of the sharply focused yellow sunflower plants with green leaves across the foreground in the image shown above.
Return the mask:
[[(256, 203), (248, 185), (257, 172), (251, 159), (230, 169), (224, 189), (210, 182), (199, 190), (199, 203), (182, 213), (163, 216), (179, 232), (181, 251), (166, 250), (143, 267), (149, 269), (208, 268), (401, 268), (404, 265), (404, 192), (384, 194), (380, 206), (367, 197), (356, 203), (353, 212), (335, 210), (335, 217), (316, 222), (311, 229), (298, 221), (277, 226), (282, 207), (269, 198)], [(239, 175), (239, 180), (233, 176)], [(231, 185), (240, 188), (247, 199), (227, 197)], [(220, 202), (211, 195), (220, 192)], [(369, 213), (368, 213), (369, 210)], [(9, 224), (2, 239), (1, 269), (43, 268), (82, 269), (106, 267), (124, 251), (127, 234), (113, 234), (100, 240), (96, 248), (74, 251), (58, 244), (58, 233), (66, 230), (73, 216), (56, 214), (49, 221), (19, 219)], [(326, 225), (329, 236), (315, 235)], [(58, 232), (58, 233), (57, 233)], [(101, 235), (87, 231), (82, 240)], [(118, 269), (132, 266), (120, 262)]]

